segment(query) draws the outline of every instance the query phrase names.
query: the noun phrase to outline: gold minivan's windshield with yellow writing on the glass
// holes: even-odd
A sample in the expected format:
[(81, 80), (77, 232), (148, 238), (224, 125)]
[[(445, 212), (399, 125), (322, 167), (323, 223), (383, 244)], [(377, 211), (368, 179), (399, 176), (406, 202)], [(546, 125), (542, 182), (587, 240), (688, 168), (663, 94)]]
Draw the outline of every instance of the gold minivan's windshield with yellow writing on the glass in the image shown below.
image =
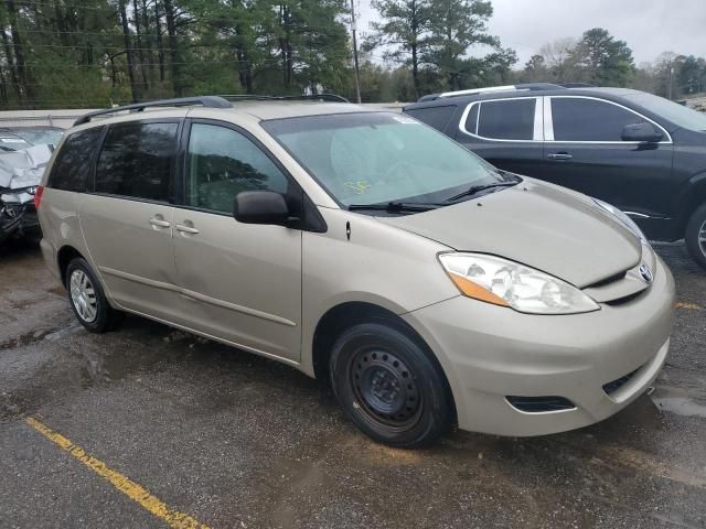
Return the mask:
[[(344, 207), (437, 204), (507, 179), (419, 121), (352, 112), (264, 121), (263, 127)], [(500, 190), (502, 187), (498, 187)]]

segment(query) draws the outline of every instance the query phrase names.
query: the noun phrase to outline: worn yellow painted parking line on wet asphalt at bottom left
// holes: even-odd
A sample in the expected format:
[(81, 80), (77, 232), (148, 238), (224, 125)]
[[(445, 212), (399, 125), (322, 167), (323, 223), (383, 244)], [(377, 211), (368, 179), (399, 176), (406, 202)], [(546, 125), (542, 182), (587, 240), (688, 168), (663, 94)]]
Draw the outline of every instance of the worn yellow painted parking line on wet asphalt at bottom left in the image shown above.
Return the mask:
[(54, 444), (60, 446), (62, 450), (65, 450), (71, 455), (76, 457), (96, 474), (106, 478), (115, 488), (120, 490), (133, 501), (140, 504), (145, 509), (149, 510), (159, 519), (167, 522), (169, 527), (172, 527), (174, 529), (210, 529), (208, 526), (201, 523), (200, 521), (193, 519), (191, 516), (172, 509), (161, 499), (152, 496), (145, 487), (132, 482), (127, 476), (124, 476), (118, 471), (114, 471), (113, 468), (108, 467), (104, 462), (96, 460), (92, 455), (87, 454), (84, 449), (82, 449), (81, 446), (76, 446), (61, 433), (55, 432), (51, 428), (42, 424), (36, 419), (30, 417), (26, 418), (24, 422), (26, 422), (30, 427), (40, 432), (46, 439), (52, 441)]

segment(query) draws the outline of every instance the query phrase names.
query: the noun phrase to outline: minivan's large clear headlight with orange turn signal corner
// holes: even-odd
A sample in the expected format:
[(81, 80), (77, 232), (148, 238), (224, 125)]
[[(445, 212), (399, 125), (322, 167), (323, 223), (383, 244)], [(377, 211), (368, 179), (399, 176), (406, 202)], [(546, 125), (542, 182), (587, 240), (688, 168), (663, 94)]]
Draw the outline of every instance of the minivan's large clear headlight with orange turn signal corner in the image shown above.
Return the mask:
[(441, 253), (464, 295), (528, 314), (577, 314), (600, 309), (576, 287), (524, 264), (481, 253)]

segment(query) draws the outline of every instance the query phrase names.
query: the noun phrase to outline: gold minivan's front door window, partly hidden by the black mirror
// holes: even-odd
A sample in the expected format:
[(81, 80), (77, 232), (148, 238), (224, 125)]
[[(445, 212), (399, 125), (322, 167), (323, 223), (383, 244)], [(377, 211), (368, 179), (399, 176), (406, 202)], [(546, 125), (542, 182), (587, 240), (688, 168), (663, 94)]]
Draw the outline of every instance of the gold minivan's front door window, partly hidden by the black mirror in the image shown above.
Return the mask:
[(192, 125), (186, 168), (186, 205), (193, 207), (233, 213), (243, 191), (287, 192), (287, 176), (257, 144), (217, 125)]

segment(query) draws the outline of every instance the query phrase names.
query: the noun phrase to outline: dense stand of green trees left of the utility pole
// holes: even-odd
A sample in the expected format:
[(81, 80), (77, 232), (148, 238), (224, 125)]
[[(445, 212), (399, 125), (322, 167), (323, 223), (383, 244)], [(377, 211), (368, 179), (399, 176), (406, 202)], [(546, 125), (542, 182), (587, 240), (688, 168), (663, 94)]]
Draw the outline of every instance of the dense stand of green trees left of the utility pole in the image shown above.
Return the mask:
[(0, 106), (345, 91), (346, 10), (345, 0), (7, 0)]

